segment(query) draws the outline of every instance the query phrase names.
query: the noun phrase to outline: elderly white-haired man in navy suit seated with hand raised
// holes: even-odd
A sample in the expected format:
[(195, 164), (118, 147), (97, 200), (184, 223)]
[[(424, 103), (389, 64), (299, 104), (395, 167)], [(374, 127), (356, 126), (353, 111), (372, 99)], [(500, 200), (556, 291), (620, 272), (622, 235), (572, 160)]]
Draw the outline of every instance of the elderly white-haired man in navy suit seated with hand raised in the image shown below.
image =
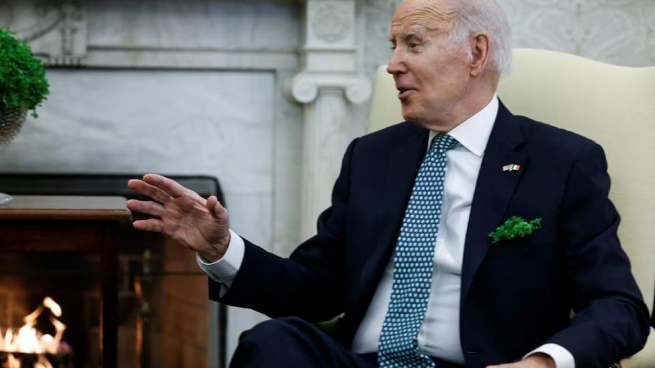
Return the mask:
[[(136, 229), (196, 251), (212, 299), (276, 318), (234, 367), (607, 368), (643, 346), (603, 151), (498, 101), (508, 33), (494, 0), (400, 4), (388, 72), (407, 122), (352, 141), (289, 259), (231, 232), (215, 197), (130, 181), (157, 201), (128, 203), (157, 217)], [(331, 335), (309, 323), (341, 314)]]

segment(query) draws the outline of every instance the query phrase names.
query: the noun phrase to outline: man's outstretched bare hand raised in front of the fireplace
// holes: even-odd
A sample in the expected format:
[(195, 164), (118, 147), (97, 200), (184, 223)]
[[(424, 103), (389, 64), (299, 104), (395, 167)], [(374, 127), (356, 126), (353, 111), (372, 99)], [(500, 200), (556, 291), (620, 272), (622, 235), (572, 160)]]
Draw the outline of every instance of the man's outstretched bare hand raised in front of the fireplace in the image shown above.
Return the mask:
[(206, 261), (223, 257), (230, 244), (230, 230), (227, 210), (218, 198), (210, 196), (205, 200), (176, 181), (156, 174), (143, 175), (143, 180), (132, 179), (128, 187), (154, 200), (128, 200), (131, 211), (156, 217), (134, 221), (134, 229), (161, 232)]

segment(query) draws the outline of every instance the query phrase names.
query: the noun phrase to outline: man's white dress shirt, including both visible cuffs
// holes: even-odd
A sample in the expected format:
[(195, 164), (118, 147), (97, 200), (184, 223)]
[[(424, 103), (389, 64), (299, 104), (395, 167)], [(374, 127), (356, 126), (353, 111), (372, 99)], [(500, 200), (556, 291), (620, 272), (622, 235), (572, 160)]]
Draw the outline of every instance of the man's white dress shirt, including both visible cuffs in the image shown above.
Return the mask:
[[(419, 329), (419, 350), (428, 356), (464, 364), (459, 336), (459, 301), (462, 277), (464, 238), (471, 212), (477, 174), (485, 147), (498, 114), (496, 96), (481, 111), (449, 132), (458, 143), (446, 152), (446, 177), (443, 183), (441, 221), (434, 252), (434, 271), (428, 310)], [(437, 132), (430, 132), (430, 141)], [(395, 255), (395, 253), (394, 253)], [(244, 242), (232, 233), (229, 248), (222, 259), (206, 263), (198, 256), (198, 265), (213, 280), (220, 282), (221, 295), (234, 280), (244, 256)], [(386, 265), (369, 308), (356, 331), (352, 351), (356, 354), (377, 352), (382, 325), (391, 297), (394, 256)], [(574, 368), (572, 354), (557, 344), (544, 344), (536, 352), (548, 354), (557, 368)]]

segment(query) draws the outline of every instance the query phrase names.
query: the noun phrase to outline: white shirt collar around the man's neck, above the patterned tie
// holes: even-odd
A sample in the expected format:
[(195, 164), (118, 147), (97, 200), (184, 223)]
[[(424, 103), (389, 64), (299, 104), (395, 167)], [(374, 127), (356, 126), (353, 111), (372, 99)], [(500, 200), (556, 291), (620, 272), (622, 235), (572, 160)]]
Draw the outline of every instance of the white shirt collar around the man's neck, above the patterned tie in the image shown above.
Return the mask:
[[(496, 115), (498, 115), (498, 97), (494, 94), (491, 101), (487, 103), (487, 106), (472, 117), (464, 120), (458, 126), (455, 126), (448, 134), (457, 139), (460, 145), (464, 146), (468, 151), (471, 151), (478, 157), (482, 157), (487, 148), (487, 142), (489, 141), (489, 136), (491, 136), (491, 129), (496, 121)], [(430, 130), (428, 149), (432, 138), (437, 134), (439, 133)]]

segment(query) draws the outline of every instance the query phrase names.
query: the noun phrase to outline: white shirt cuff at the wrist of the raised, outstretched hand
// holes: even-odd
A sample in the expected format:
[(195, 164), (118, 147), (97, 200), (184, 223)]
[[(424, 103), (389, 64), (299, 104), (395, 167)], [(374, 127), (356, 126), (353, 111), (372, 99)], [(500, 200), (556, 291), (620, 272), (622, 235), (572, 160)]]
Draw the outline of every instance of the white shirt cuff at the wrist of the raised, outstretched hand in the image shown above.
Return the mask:
[[(203, 270), (212, 280), (225, 285), (225, 288), (230, 287), (236, 272), (241, 268), (241, 263), (244, 260), (244, 253), (246, 252), (246, 245), (244, 240), (235, 232), (230, 230), (230, 244), (227, 246), (227, 251), (218, 261), (208, 263), (199, 254), (196, 253), (196, 260), (198, 266)], [(223, 287), (221, 287), (221, 290)], [(227, 289), (226, 289), (227, 291)], [(223, 296), (221, 291), (221, 296)]]

